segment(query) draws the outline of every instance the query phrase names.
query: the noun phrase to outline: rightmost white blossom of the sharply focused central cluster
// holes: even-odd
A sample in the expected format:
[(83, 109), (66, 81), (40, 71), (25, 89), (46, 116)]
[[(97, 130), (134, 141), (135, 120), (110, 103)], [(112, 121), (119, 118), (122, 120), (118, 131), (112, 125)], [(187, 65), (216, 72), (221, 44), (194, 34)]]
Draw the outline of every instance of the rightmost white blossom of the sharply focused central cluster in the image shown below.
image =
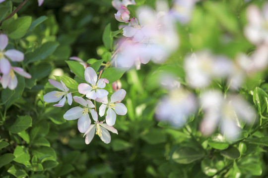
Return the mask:
[(102, 105), (99, 109), (99, 115), (102, 117), (105, 114), (105, 110), (108, 106), (107, 115), (105, 117), (105, 121), (108, 126), (113, 126), (116, 121), (116, 114), (118, 115), (126, 115), (127, 107), (123, 103), (115, 103), (117, 101), (121, 101), (126, 96), (125, 89), (119, 89), (114, 94), (112, 94), (110, 101), (108, 101), (108, 97), (105, 96), (103, 98), (96, 98), (96, 101), (101, 102)]

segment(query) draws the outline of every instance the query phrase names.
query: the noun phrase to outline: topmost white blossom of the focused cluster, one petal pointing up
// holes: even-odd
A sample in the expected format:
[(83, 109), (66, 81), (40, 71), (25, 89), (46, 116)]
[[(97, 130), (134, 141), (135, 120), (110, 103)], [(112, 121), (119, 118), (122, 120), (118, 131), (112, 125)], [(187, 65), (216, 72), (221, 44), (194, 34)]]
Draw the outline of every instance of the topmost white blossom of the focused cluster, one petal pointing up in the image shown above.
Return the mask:
[(103, 98), (109, 94), (108, 91), (103, 89), (106, 83), (109, 84), (109, 81), (107, 79), (98, 80), (98, 76), (92, 67), (87, 67), (84, 75), (86, 82), (90, 85), (85, 83), (79, 84), (79, 93), (85, 94), (89, 99)]

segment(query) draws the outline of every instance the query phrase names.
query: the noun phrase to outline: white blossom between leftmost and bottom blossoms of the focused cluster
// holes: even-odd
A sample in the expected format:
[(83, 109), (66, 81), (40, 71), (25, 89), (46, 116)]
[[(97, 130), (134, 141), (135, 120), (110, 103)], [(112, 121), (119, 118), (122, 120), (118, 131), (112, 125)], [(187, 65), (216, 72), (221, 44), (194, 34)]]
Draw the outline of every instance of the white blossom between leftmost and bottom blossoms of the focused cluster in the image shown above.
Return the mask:
[(90, 100), (85, 100), (79, 96), (73, 96), (73, 100), (84, 107), (81, 108), (76, 106), (67, 110), (67, 112), (64, 114), (64, 119), (75, 120), (79, 118), (77, 122), (78, 130), (80, 133), (85, 133), (91, 123), (88, 111), (90, 112), (93, 120), (98, 121), (98, 114), (93, 109), (95, 108), (95, 105)]

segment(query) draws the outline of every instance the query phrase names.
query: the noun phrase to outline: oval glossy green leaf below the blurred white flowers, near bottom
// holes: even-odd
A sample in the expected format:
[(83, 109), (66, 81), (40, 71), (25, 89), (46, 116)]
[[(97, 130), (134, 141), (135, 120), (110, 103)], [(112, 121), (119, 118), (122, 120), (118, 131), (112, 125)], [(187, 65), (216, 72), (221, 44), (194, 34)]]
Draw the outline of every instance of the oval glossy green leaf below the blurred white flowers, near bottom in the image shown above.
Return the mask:
[(176, 149), (171, 159), (180, 164), (189, 164), (204, 157), (202, 152), (199, 152), (191, 147), (180, 147)]

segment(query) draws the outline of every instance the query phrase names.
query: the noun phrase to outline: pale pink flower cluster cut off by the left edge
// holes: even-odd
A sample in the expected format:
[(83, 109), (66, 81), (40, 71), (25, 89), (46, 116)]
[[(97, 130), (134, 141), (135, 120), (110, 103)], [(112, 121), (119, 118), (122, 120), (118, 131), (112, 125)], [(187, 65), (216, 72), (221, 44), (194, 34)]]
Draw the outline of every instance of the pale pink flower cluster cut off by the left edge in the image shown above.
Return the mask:
[(8, 37), (5, 34), (0, 34), (0, 84), (4, 89), (15, 89), (18, 84), (17, 74), (30, 79), (31, 75), (24, 71), (21, 67), (13, 67), (11, 62), (21, 62), (24, 59), (24, 54), (16, 49), (5, 50), (8, 45)]

